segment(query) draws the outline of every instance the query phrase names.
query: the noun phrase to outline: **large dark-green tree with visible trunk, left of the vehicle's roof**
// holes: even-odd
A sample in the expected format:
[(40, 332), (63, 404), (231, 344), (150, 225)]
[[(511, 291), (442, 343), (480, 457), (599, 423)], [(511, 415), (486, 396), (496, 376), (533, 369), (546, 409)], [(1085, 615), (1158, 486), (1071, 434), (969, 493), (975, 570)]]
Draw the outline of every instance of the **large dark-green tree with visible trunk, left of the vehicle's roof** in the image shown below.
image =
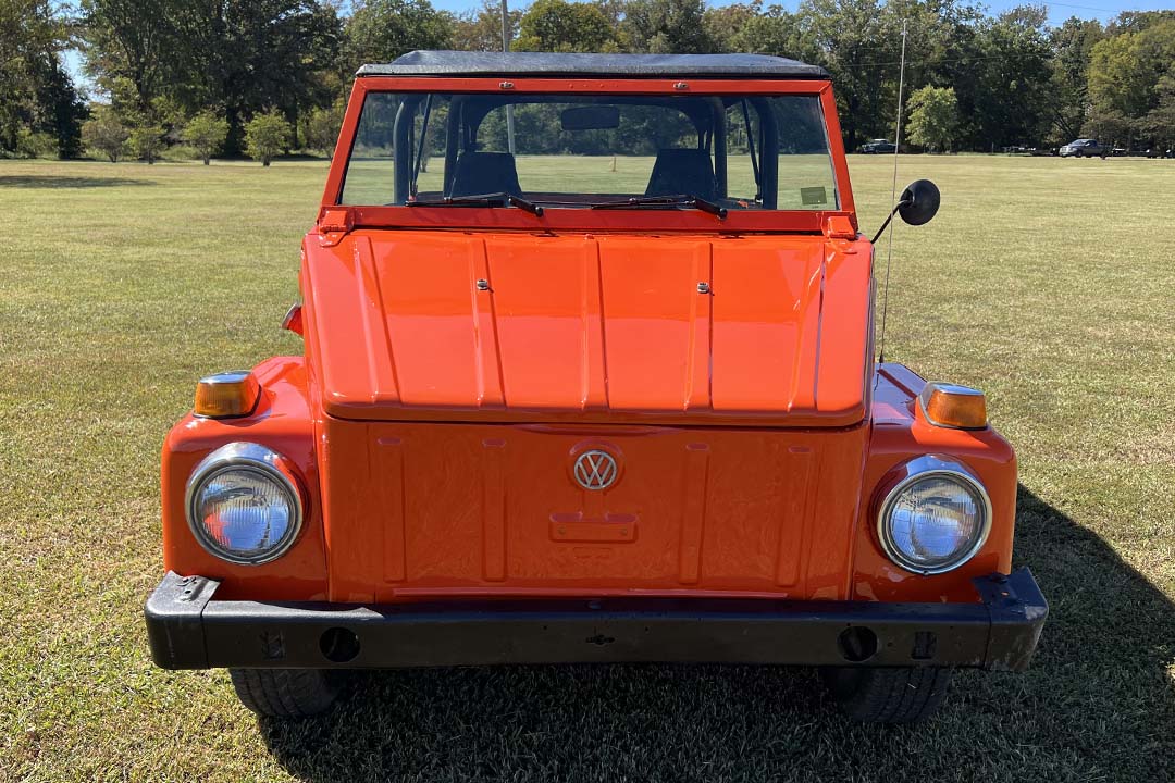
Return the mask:
[[(163, 122), (161, 100), (223, 107), (239, 151), (246, 117), (289, 120), (336, 96), (342, 23), (328, 0), (83, 0), (86, 68), (126, 116)], [(123, 82), (130, 89), (123, 87)]]

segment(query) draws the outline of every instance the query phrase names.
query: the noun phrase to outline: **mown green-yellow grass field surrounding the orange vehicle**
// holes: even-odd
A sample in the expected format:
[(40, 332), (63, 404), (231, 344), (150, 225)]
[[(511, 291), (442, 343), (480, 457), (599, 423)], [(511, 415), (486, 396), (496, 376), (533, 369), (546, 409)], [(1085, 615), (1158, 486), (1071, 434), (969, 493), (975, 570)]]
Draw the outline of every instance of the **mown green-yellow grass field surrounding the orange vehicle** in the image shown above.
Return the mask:
[[(914, 728), (803, 670), (387, 673), (281, 725), (155, 669), (163, 434), (200, 374), (301, 350), (325, 168), (0, 162), (0, 779), (1175, 779), (1175, 162), (901, 166), (944, 205), (898, 229), (887, 355), (987, 390), (1052, 603), (1028, 673)], [(889, 161), (851, 167), (868, 230)]]

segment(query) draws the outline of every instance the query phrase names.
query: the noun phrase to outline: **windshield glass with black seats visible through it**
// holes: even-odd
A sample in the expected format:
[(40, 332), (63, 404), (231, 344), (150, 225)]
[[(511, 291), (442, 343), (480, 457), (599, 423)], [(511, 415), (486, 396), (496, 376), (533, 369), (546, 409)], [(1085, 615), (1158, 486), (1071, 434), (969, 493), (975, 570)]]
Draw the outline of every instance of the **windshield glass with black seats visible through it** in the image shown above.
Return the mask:
[(470, 204), (485, 194), (549, 208), (840, 205), (817, 95), (367, 96), (341, 203), (509, 203)]

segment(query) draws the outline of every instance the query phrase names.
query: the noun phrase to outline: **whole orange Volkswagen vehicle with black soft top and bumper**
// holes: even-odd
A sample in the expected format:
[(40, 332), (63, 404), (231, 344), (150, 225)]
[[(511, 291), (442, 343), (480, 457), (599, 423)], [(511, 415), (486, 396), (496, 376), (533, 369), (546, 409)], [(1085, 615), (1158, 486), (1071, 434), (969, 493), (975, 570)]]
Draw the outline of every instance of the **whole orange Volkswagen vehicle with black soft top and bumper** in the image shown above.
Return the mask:
[(164, 444), (160, 666), (286, 717), (354, 669), (817, 666), (914, 721), (1028, 664), (1015, 457), (981, 392), (874, 358), (822, 69), (365, 66), (300, 281), (304, 355), (204, 378)]

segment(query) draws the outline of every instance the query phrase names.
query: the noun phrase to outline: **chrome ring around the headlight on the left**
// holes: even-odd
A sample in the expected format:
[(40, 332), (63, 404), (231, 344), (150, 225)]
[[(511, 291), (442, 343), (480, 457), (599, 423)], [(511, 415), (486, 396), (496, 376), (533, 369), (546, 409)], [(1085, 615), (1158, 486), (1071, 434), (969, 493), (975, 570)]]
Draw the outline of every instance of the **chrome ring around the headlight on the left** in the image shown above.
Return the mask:
[[(253, 556), (241, 555), (240, 553), (226, 549), (208, 534), (208, 531), (199, 521), (197, 504), (200, 502), (201, 493), (208, 486), (209, 481), (229, 470), (253, 472), (273, 481), (286, 494), (289, 501), (291, 519), (286, 534), (282, 535), (275, 546)], [(183, 508), (188, 518), (188, 529), (192, 531), (192, 535), (204, 551), (227, 562), (242, 566), (260, 566), (282, 556), (297, 541), (302, 532), (306, 500), (302, 494), (297, 472), (289, 459), (268, 446), (249, 441), (236, 441), (221, 446), (200, 460), (192, 471), (192, 475), (188, 477)]]

